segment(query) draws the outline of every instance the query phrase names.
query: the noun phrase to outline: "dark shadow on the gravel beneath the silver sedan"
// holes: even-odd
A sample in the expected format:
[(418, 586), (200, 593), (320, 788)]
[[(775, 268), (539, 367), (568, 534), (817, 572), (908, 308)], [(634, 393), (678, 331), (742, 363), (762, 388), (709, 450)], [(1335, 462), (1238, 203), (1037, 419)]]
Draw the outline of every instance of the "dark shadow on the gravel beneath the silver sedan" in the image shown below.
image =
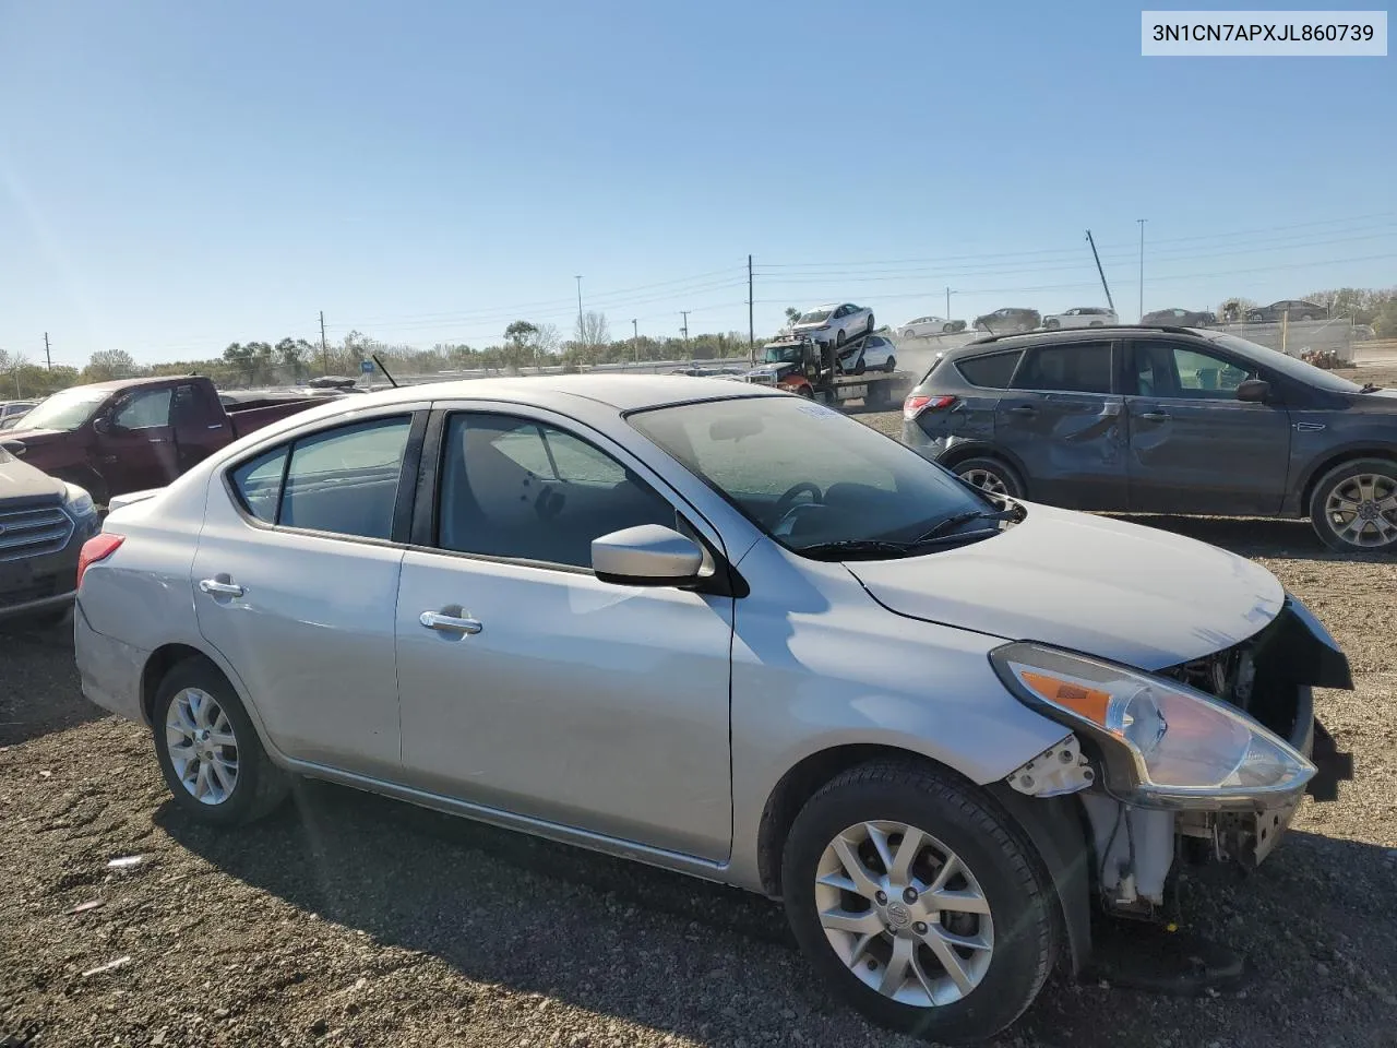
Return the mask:
[[(738, 1009), (729, 1035), (784, 1041), (782, 1016), (799, 1013), (819, 1017), (821, 1044), (868, 1037), (816, 984), (780, 905), (736, 889), (313, 783), (244, 830), (211, 830), (169, 803), (156, 822), (229, 875), (475, 982), (711, 1044), (731, 1042), (721, 1031)], [(1173, 1044), (1376, 1044), (1397, 963), (1394, 869), (1383, 848), (1294, 831), (1249, 878), (1201, 869), (1183, 880), (1185, 921), (1248, 957), (1252, 1005), (1055, 977), (1006, 1044), (1169, 1044), (1169, 1030)], [(637, 995), (637, 967), (666, 973), (669, 992)]]

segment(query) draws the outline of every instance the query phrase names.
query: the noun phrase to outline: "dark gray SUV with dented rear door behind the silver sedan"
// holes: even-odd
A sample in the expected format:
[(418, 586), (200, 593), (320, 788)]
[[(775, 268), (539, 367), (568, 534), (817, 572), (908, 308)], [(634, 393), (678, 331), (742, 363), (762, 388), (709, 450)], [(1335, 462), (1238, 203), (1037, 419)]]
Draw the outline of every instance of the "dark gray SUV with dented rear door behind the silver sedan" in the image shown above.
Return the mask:
[(1397, 391), (1235, 335), (1111, 327), (942, 354), (902, 440), (978, 486), (1080, 510), (1308, 516), (1397, 552)]

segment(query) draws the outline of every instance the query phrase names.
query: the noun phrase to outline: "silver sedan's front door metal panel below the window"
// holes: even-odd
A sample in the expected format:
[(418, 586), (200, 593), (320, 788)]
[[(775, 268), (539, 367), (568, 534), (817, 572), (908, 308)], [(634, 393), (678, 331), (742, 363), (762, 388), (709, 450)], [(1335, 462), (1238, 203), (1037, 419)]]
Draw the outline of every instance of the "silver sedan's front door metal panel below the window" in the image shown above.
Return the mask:
[[(481, 632), (420, 623), (443, 609)], [(409, 551), (397, 639), (414, 785), (726, 857), (731, 598)]]

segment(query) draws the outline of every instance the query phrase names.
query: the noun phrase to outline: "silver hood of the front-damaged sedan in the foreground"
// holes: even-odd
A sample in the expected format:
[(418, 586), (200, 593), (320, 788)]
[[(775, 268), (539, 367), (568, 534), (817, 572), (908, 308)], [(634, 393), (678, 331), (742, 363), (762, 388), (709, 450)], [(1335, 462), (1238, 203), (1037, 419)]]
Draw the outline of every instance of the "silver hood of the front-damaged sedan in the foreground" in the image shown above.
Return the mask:
[(1215, 546), (1085, 513), (1027, 509), (1021, 523), (968, 546), (845, 566), (898, 615), (1141, 669), (1246, 640), (1285, 601), (1275, 576)]

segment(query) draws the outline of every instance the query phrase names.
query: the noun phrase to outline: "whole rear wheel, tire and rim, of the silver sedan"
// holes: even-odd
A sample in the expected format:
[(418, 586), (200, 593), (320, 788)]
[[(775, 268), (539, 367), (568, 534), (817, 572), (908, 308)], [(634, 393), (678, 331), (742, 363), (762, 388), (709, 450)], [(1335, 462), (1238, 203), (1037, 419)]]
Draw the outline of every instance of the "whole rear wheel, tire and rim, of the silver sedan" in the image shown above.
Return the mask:
[(286, 773), (268, 759), (217, 667), (203, 658), (176, 665), (161, 682), (151, 714), (165, 784), (187, 813), (231, 826), (258, 819), (285, 799)]

